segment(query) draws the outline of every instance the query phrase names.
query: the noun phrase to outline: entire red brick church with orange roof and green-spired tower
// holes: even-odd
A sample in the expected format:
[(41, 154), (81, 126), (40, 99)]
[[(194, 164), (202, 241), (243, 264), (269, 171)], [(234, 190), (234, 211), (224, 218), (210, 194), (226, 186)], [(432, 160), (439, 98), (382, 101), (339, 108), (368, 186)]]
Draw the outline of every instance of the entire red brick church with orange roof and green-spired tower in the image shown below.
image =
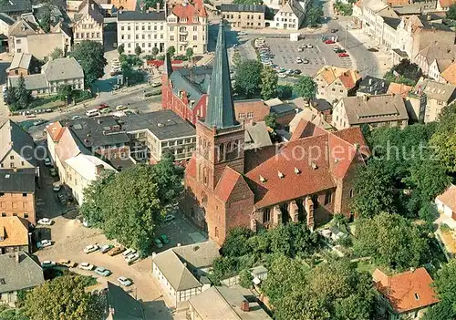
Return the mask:
[(302, 120), (289, 142), (244, 150), (236, 122), (223, 26), (208, 88), (207, 113), (196, 123), (197, 148), (185, 170), (182, 211), (222, 244), (236, 226), (258, 230), (334, 213), (351, 215), (357, 167), (368, 150), (360, 129), (328, 132)]

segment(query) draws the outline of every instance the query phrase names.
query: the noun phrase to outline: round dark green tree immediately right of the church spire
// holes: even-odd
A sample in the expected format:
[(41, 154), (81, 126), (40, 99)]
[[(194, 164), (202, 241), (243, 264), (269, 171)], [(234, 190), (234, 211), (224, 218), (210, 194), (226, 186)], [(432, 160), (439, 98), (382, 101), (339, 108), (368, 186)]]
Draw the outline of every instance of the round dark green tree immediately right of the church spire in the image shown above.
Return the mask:
[(254, 97), (260, 91), (262, 70), (263, 65), (260, 61), (242, 60), (236, 66), (234, 90), (246, 98)]

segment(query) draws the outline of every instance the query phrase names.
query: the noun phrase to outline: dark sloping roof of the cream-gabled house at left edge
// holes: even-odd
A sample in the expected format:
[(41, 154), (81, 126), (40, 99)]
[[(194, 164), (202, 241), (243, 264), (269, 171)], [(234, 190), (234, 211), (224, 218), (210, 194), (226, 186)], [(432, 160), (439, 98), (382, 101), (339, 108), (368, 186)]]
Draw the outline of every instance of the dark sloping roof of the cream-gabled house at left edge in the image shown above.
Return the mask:
[(34, 147), (35, 142), (32, 137), (16, 122), (8, 119), (0, 126), (0, 160), (3, 160), (10, 150), (15, 150), (24, 160), (36, 166)]

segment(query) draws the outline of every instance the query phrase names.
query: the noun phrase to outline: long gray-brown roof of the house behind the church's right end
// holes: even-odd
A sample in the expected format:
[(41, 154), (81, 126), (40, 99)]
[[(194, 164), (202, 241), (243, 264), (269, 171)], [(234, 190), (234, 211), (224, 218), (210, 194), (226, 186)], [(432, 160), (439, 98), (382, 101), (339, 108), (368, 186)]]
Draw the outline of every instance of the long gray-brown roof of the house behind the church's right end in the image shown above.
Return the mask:
[(409, 119), (400, 95), (347, 97), (341, 103), (350, 125)]

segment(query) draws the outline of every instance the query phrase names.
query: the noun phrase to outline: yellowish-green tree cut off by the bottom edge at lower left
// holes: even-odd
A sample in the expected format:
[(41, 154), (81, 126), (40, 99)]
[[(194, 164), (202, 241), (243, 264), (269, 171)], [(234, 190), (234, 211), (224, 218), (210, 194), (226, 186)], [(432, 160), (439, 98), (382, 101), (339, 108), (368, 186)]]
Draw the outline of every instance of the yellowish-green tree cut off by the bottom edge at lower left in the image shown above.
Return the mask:
[(24, 314), (34, 320), (101, 319), (105, 308), (98, 295), (85, 291), (82, 276), (64, 275), (26, 295)]

